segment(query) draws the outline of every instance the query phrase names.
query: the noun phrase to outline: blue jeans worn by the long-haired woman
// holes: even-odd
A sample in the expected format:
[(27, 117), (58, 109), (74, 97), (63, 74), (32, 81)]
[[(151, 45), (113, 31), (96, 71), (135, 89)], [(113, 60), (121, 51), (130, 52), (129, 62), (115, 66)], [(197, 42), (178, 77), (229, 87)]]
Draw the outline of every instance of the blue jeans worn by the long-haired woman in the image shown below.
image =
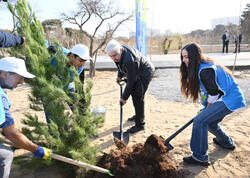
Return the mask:
[(219, 123), (232, 113), (223, 101), (218, 101), (205, 108), (194, 118), (190, 147), (193, 157), (200, 161), (208, 160), (208, 131), (216, 136), (222, 145), (232, 145), (232, 139), (222, 130)]

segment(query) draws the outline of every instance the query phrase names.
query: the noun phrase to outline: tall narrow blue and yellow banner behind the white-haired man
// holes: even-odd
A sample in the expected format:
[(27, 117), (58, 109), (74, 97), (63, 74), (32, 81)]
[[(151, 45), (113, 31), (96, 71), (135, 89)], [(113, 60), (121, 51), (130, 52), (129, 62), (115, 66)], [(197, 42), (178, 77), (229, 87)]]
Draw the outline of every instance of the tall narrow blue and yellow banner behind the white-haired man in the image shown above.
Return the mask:
[(147, 56), (147, 7), (146, 0), (136, 0), (136, 48)]

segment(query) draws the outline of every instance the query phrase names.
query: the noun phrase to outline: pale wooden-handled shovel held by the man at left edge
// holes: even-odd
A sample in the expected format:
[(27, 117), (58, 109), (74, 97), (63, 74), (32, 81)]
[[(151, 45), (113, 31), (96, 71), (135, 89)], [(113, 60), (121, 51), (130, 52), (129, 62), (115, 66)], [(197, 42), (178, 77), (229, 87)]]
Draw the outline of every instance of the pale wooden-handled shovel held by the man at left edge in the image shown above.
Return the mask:
[[(0, 138), (0, 142), (6, 143), (8, 145), (11, 145), (11, 146), (15, 147), (14, 143), (12, 143), (12, 142), (4, 139), (4, 138)], [(93, 171), (97, 171), (97, 172), (100, 172), (100, 173), (108, 174), (109, 176), (114, 176), (111, 173), (110, 170), (107, 170), (107, 169), (104, 169), (104, 168), (101, 168), (101, 167), (98, 167), (98, 166), (90, 165), (88, 163), (84, 163), (84, 162), (81, 162), (81, 161), (76, 161), (76, 160), (73, 160), (71, 158), (67, 158), (67, 157), (64, 157), (64, 156), (61, 156), (61, 155), (58, 155), (58, 154), (54, 154), (54, 153), (51, 153), (50, 156), (53, 159), (56, 159), (56, 160), (59, 160), (59, 161), (63, 161), (65, 163), (73, 164), (73, 165), (76, 165), (76, 166), (79, 166), (79, 167), (83, 167), (83, 168), (87, 168), (87, 169), (90, 169), (90, 170), (93, 170)]]

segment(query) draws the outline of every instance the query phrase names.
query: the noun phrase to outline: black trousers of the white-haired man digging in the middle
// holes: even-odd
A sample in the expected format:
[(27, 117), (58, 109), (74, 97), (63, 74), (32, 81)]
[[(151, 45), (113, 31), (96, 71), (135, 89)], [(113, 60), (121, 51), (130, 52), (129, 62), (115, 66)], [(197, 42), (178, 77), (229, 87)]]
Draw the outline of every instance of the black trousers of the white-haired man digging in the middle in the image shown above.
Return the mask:
[(138, 79), (131, 94), (135, 108), (135, 125), (143, 127), (145, 125), (144, 97), (152, 77), (148, 80)]

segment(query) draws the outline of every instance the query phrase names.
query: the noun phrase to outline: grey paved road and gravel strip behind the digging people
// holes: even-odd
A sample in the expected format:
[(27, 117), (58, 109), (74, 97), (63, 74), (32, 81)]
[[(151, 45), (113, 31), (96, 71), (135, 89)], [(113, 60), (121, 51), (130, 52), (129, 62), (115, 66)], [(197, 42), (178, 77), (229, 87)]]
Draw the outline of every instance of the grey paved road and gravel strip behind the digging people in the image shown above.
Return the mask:
[[(228, 53), (208, 53), (205, 56), (210, 56), (227, 67), (234, 65), (235, 54)], [(156, 78), (153, 78), (149, 93), (153, 94), (158, 99), (186, 102), (182, 98), (180, 93), (180, 79), (179, 79), (179, 66), (180, 66), (180, 55), (170, 54), (170, 55), (152, 55), (151, 61), (156, 67)], [(87, 63), (87, 68), (89, 63)], [(242, 52), (237, 54), (236, 68), (244, 67), (245, 69), (249, 67), (250, 70), (250, 52)], [(99, 56), (96, 62), (97, 70), (116, 70), (114, 62), (108, 56)], [(247, 104), (250, 104), (250, 82), (249, 79), (237, 78)]]

